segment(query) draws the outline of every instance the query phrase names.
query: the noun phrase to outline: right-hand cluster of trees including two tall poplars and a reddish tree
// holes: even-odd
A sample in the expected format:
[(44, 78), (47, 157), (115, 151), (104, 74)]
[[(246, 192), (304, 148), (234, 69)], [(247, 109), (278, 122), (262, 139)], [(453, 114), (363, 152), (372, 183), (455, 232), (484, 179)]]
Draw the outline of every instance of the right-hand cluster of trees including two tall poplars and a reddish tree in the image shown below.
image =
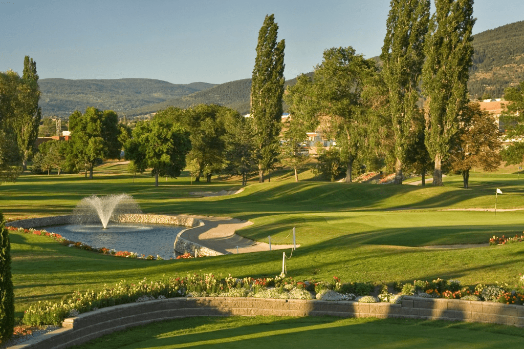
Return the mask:
[(498, 166), (497, 126), (468, 104), (473, 1), (435, 0), (435, 8), (430, 16), (429, 0), (392, 0), (380, 69), (352, 47), (331, 48), (312, 78), (302, 75), (287, 89), (285, 138), (294, 154), (305, 131), (320, 128), (336, 141), (346, 182), (355, 164), (385, 162), (395, 184), (403, 170), (424, 174), (432, 165), (434, 185), (451, 170), (467, 187), (470, 168)]

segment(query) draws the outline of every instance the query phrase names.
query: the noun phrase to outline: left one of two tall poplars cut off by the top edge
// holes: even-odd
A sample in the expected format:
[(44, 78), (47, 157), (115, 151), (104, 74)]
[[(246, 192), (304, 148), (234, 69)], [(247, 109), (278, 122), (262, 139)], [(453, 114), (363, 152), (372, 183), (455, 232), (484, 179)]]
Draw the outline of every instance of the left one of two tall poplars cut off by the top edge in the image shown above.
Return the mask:
[(412, 123), (420, 98), (424, 37), (428, 31), (429, 0), (391, 0), (382, 47), (382, 76), (388, 89), (387, 115), (391, 122), (395, 184), (402, 184), (402, 163), (416, 136)]

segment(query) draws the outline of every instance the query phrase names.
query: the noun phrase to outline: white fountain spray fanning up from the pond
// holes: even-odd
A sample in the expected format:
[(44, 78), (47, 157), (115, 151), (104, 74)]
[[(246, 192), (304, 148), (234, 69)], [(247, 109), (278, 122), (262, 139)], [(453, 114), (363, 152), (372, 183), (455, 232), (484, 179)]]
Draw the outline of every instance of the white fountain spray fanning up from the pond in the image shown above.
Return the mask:
[(135, 199), (128, 194), (91, 195), (83, 198), (73, 210), (71, 223), (78, 225), (102, 223), (103, 229), (113, 215), (141, 214)]

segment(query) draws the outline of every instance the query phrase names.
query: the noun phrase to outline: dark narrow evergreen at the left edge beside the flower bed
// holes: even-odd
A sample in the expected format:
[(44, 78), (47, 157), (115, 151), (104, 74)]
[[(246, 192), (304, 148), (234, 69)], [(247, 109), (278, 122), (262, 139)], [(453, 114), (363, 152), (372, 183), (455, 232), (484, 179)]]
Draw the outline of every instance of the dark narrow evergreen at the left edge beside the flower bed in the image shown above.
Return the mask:
[(0, 343), (13, 335), (15, 325), (15, 295), (11, 279), (9, 234), (0, 212)]

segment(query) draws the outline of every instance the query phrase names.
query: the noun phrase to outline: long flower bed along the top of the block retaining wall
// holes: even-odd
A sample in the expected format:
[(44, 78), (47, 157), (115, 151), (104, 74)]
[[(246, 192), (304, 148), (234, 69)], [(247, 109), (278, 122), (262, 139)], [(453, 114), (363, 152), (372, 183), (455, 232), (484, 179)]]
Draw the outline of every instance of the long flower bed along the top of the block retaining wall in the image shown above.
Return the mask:
[(424, 298), (467, 299), (492, 301), (504, 304), (524, 304), (524, 276), (519, 285), (511, 289), (508, 284), (477, 284), (475, 287), (461, 285), (458, 280), (433, 281), (415, 280), (413, 283), (396, 284), (394, 294), (383, 285), (378, 297), (369, 293), (375, 289), (371, 283), (348, 282), (334, 277), (326, 282), (296, 281), (281, 274), (275, 278), (236, 279), (231, 275), (222, 278), (214, 274), (188, 274), (186, 277), (165, 278), (148, 282), (127, 283), (125, 280), (115, 287), (105, 285), (100, 292), (74, 292), (59, 303), (49, 301), (32, 304), (25, 312), (26, 325), (60, 325), (68, 316), (105, 308), (118, 304), (144, 302), (174, 297), (254, 297), (274, 299), (320, 299), (326, 301), (355, 300), (362, 303), (401, 303), (405, 295)]

